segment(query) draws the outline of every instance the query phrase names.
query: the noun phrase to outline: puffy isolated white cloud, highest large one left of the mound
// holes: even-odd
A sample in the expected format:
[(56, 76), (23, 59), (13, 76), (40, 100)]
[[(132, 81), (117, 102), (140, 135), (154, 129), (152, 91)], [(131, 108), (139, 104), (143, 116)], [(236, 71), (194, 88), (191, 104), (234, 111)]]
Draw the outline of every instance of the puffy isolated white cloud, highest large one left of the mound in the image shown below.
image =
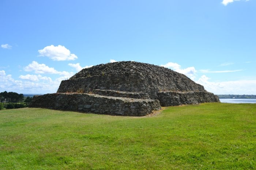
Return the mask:
[(38, 50), (38, 52), (40, 56), (46, 56), (55, 61), (75, 60), (78, 58), (75, 54), (71, 54), (67, 48), (61, 45), (46, 46), (42, 50)]

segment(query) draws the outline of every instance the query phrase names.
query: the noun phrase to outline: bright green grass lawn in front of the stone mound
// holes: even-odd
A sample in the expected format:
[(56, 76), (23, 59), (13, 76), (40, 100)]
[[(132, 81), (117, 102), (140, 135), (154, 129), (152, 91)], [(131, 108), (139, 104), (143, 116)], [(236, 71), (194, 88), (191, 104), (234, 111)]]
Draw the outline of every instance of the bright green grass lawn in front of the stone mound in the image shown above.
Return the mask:
[(0, 111), (0, 169), (255, 169), (256, 104), (123, 117)]

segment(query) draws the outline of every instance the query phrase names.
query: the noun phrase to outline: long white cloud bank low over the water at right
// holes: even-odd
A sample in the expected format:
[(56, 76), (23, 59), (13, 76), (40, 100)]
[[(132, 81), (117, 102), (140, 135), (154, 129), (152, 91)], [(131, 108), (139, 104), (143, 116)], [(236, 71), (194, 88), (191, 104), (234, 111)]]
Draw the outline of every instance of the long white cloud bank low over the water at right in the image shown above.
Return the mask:
[(226, 82), (211, 82), (206, 75), (201, 76), (196, 83), (214, 94), (256, 94), (256, 80), (236, 80)]

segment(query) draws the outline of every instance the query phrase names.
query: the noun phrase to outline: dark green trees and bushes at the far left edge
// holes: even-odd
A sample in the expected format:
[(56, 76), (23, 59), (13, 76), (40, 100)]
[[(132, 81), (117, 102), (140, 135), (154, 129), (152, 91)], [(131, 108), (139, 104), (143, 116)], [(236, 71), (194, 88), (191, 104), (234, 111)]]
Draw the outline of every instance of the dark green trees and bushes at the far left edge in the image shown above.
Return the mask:
[(0, 93), (0, 110), (6, 108), (23, 108), (27, 107), (31, 102), (31, 97), (24, 97), (23, 94), (18, 94), (16, 92), (1, 92)]

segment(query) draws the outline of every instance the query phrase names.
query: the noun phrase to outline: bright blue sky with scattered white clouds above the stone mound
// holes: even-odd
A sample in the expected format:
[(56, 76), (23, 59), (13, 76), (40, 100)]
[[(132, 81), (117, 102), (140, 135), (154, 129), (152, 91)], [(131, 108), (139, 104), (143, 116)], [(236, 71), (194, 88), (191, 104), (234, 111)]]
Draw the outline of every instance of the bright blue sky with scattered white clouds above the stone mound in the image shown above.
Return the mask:
[(150, 63), (214, 94), (256, 94), (255, 0), (1, 0), (0, 92), (45, 94), (85, 67)]

